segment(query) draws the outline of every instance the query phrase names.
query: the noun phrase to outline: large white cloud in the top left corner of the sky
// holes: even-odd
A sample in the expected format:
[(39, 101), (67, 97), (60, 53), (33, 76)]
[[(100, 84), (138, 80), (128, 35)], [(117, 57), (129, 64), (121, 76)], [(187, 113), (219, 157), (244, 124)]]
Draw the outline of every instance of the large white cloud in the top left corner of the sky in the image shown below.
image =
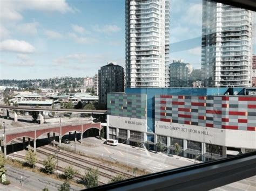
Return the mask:
[(26, 1), (1, 1), (1, 21), (18, 21), (22, 20), (21, 12), (23, 10), (38, 10), (60, 13), (74, 12), (75, 9), (71, 8), (65, 0), (26, 0)]

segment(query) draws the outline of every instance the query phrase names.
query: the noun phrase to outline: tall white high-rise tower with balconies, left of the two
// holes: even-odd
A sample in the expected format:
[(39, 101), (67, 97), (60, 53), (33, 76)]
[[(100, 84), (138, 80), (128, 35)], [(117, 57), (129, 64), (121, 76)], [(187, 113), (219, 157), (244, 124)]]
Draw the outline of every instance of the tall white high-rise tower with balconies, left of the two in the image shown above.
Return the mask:
[(170, 0), (125, 2), (126, 87), (168, 87)]

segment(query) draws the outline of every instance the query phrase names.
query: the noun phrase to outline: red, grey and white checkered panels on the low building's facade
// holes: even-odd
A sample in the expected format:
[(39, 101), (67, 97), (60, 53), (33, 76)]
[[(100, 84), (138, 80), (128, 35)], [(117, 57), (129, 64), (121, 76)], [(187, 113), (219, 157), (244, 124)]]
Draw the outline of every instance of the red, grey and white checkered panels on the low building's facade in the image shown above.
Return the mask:
[(256, 96), (156, 95), (156, 121), (256, 131)]

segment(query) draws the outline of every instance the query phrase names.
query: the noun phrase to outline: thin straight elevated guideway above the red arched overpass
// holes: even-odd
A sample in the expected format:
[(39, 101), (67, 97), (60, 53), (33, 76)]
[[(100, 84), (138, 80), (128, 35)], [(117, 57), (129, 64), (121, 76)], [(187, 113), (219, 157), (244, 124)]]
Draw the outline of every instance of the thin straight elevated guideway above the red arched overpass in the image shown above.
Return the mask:
[(23, 110), (23, 111), (51, 111), (51, 112), (71, 112), (83, 114), (106, 114), (107, 110), (84, 110), (84, 109), (52, 109), (52, 108), (31, 108), (31, 107), (14, 107), (9, 105), (1, 105), (2, 109)]

